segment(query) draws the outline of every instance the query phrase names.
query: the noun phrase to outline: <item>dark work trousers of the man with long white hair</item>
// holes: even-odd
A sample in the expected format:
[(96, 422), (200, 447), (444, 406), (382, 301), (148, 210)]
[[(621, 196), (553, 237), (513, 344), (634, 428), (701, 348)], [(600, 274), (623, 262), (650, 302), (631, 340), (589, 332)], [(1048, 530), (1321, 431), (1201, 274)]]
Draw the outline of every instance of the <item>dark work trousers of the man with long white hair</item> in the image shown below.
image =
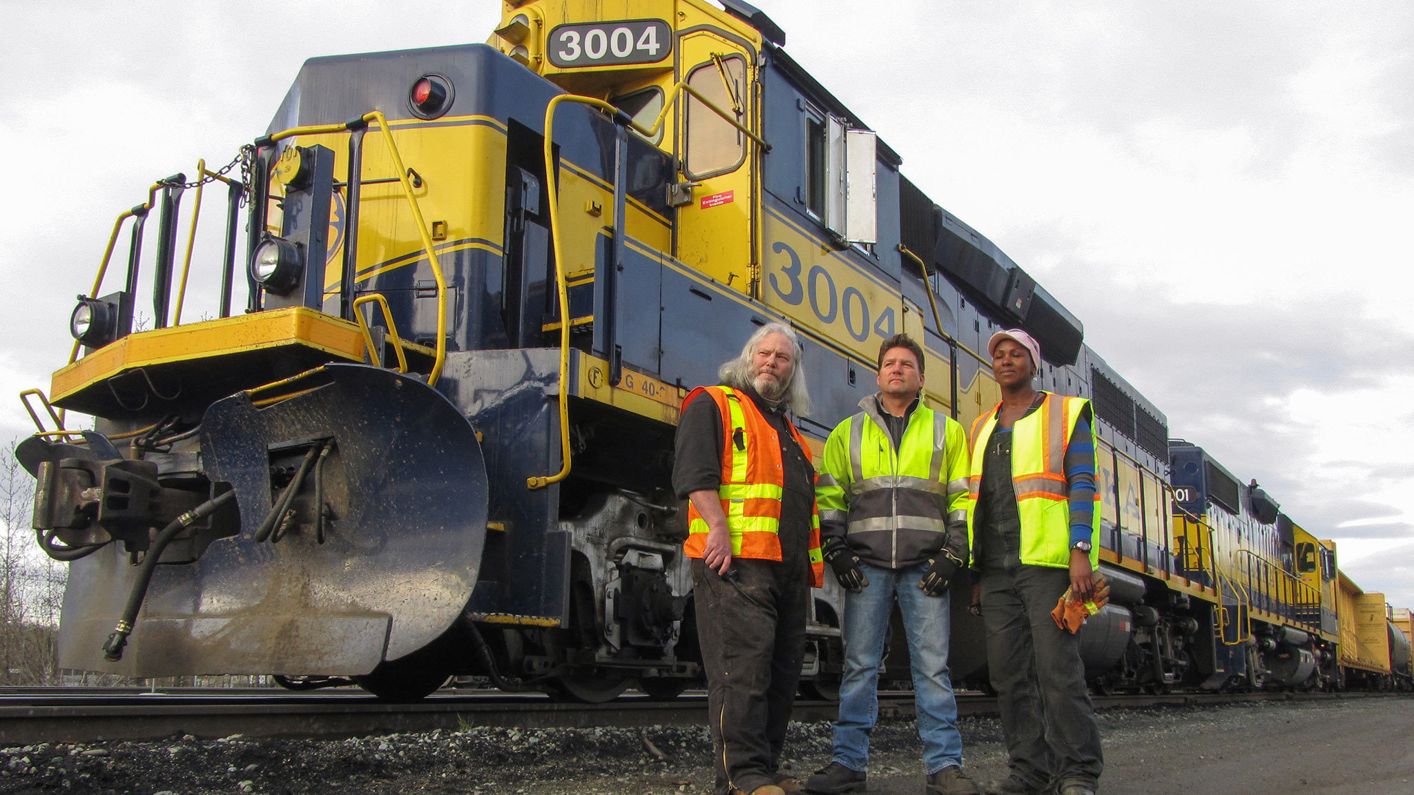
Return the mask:
[(734, 557), (730, 571), (735, 577), (724, 579), (693, 560), (718, 795), (772, 784), (781, 767), (810, 598), (800, 556), (785, 563)]

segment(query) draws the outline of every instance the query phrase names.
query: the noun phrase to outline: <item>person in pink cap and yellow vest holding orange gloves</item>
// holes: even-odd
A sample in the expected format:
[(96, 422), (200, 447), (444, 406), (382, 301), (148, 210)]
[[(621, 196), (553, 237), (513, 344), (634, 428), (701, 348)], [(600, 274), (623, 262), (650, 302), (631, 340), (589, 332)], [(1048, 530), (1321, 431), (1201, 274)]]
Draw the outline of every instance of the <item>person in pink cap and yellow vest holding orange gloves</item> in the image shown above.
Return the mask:
[(969, 434), (967, 529), (1011, 768), (1000, 792), (1094, 795), (1104, 762), (1079, 635), (1051, 618), (1066, 587), (1096, 588), (1094, 417), (1089, 400), (1032, 386), (1041, 345), (1025, 331), (987, 351), (1001, 403)]

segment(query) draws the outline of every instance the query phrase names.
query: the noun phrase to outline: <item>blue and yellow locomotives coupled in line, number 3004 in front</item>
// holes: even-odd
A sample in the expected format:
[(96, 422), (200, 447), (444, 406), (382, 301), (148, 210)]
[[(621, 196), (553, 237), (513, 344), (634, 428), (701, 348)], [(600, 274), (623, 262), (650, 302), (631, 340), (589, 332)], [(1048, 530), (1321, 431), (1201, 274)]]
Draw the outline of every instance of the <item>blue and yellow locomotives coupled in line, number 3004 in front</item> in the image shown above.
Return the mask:
[[(51, 383), (95, 430), (18, 450), (41, 545), (71, 562), (61, 665), (402, 699), (454, 673), (673, 696), (700, 678), (677, 409), (781, 320), (806, 340), (816, 453), (899, 331), (964, 426), (998, 398), (978, 351), (1004, 327), (1041, 341), (1042, 389), (1094, 400), (1097, 686), (1333, 676), (1328, 547), (1171, 450), (1080, 321), (783, 44), (740, 0), (512, 0), (488, 44), (308, 61), (230, 167), (154, 184)], [(208, 185), (228, 188), (219, 317), (181, 323), (180, 202)], [(124, 225), (126, 280), (105, 293)], [(952, 669), (980, 683), (966, 601)], [(840, 604), (833, 581), (813, 603), (817, 693)]]

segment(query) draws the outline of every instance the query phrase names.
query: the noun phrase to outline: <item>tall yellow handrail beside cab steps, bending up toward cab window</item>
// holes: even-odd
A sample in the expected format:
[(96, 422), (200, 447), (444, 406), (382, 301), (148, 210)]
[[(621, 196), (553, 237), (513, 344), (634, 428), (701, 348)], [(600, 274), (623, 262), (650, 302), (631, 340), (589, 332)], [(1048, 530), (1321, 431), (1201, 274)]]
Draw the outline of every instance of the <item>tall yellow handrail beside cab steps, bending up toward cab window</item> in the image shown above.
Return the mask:
[[(687, 85), (687, 81), (680, 81), (673, 86), (666, 102), (663, 102), (663, 109), (658, 112), (658, 119), (653, 120), (653, 126), (643, 129), (632, 120), (625, 122), (625, 124), (636, 130), (646, 139), (652, 139), (658, 134), (658, 130), (663, 126), (663, 120), (667, 119), (667, 112), (672, 109), (677, 98), (687, 93), (696, 98), (699, 102), (706, 105), (713, 113), (721, 116), (728, 124), (735, 127), (738, 132), (745, 134), (748, 139), (756, 143), (756, 146), (769, 150), (768, 144), (761, 136), (752, 133), (737, 122), (730, 113), (717, 108), (711, 100), (699, 93), (694, 88)], [(570, 402), (568, 381), (570, 381), (570, 323), (564, 323), (564, 315), (568, 314), (570, 306), (570, 289), (566, 279), (564, 269), (564, 250), (560, 245), (560, 192), (559, 181), (556, 180), (554, 171), (554, 109), (560, 106), (561, 102), (577, 102), (580, 105), (588, 105), (591, 108), (598, 108), (607, 113), (619, 116), (622, 110), (617, 106), (598, 99), (595, 96), (581, 96), (574, 93), (561, 93), (550, 99), (550, 103), (544, 109), (544, 174), (546, 180), (550, 181), (549, 204), (550, 204), (550, 246), (554, 252), (554, 287), (556, 296), (560, 300), (560, 471), (553, 475), (533, 475), (526, 478), (526, 488), (543, 488), (553, 482), (560, 482), (570, 475)], [(615, 218), (614, 222), (619, 224), (622, 219)]]

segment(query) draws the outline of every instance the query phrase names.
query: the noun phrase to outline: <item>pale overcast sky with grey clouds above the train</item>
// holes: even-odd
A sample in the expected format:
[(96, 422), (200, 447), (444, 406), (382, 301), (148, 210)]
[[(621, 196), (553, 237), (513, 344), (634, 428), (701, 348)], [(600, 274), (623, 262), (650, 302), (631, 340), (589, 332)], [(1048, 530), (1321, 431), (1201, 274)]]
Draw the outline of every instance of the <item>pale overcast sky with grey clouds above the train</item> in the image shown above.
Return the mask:
[[(758, 6), (1172, 436), (1414, 607), (1414, 4)], [(4, 437), (31, 430), (8, 396), (48, 389), (74, 296), (154, 180), (229, 161), (305, 58), (479, 42), (499, 8), (0, 0)]]

